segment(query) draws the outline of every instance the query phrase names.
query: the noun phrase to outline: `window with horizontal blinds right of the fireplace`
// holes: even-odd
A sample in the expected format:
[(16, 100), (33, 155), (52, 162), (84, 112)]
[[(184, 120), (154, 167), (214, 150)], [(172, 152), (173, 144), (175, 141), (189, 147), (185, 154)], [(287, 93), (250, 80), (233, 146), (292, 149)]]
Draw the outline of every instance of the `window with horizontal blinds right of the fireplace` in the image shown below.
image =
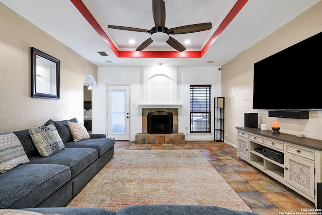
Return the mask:
[(190, 85), (190, 132), (211, 131), (211, 85)]

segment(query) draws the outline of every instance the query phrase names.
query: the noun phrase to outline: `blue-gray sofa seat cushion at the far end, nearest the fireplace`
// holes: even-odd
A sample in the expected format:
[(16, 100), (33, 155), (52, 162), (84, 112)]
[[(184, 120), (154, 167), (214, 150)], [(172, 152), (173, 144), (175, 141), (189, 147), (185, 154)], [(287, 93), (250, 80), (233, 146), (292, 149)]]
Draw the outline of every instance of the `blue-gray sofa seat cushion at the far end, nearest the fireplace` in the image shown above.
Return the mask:
[(114, 138), (91, 138), (81, 141), (70, 141), (65, 143), (66, 148), (92, 148), (96, 149), (101, 157), (115, 145)]

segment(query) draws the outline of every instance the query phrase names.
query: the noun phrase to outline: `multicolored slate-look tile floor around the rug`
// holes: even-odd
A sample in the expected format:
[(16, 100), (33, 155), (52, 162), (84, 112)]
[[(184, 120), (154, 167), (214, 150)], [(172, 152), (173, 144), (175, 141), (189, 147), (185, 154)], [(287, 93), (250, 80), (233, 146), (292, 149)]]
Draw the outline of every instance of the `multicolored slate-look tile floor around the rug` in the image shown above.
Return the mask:
[(300, 214), (315, 208), (313, 202), (293, 192), (260, 170), (236, 157), (236, 149), (224, 142), (186, 141), (186, 144), (135, 144), (116, 141), (115, 150), (199, 150), (227, 183), (260, 215)]

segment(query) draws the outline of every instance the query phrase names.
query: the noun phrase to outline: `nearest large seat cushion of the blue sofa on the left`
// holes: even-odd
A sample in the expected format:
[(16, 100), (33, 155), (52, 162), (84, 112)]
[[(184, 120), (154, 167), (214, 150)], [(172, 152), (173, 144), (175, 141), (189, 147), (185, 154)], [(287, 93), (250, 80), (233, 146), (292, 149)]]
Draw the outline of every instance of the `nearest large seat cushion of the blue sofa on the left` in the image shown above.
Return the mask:
[(35, 207), (70, 179), (66, 166), (20, 165), (0, 177), (0, 208)]

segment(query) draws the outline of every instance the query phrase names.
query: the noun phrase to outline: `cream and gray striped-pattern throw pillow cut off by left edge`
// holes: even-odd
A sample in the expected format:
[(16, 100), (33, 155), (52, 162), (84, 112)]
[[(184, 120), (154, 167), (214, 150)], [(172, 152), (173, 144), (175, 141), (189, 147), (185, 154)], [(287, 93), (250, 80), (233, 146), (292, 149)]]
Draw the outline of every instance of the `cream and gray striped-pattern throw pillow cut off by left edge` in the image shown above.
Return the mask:
[(11, 130), (0, 133), (0, 173), (6, 173), (29, 159), (19, 138)]

